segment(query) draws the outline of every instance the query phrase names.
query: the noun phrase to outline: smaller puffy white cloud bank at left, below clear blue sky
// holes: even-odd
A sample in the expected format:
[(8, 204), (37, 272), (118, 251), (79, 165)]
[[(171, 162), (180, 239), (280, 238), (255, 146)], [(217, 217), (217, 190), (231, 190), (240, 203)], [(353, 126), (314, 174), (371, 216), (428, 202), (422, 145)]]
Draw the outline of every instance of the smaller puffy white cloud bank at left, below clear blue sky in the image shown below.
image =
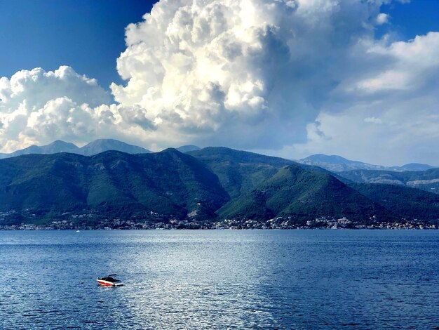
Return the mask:
[[(0, 145), (5, 152), (63, 139), (88, 143), (114, 136), (138, 142), (131, 135), (148, 121), (136, 107), (111, 104), (107, 91), (71, 67), (46, 72), (22, 70), (0, 79)], [(152, 124), (149, 125), (152, 128)]]

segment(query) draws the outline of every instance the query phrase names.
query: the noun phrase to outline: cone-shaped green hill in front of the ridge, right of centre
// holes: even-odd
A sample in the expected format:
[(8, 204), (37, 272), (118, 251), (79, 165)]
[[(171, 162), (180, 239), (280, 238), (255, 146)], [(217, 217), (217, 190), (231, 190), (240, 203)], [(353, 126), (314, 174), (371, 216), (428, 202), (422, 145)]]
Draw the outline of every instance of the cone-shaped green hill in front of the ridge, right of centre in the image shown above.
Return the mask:
[(280, 169), (255, 190), (243, 194), (219, 210), (222, 218), (293, 216), (313, 219), (346, 216), (367, 221), (385, 216), (384, 208), (327, 173), (307, 171), (297, 165)]

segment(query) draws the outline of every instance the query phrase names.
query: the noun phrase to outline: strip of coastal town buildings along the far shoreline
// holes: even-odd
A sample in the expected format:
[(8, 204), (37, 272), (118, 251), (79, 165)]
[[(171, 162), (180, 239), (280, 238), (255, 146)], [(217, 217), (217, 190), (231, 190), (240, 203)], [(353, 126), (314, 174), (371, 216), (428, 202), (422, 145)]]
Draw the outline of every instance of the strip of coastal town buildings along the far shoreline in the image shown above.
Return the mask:
[[(346, 217), (320, 217), (307, 220), (305, 223), (297, 222), (291, 216), (276, 217), (269, 220), (252, 219), (225, 219), (212, 222), (211, 220), (194, 220), (176, 218), (166, 219), (156, 214), (149, 219), (121, 219), (103, 218), (96, 219), (93, 213), (73, 215), (66, 220), (52, 220), (47, 223), (19, 223), (14, 225), (1, 225), (0, 230), (288, 230), (288, 229), (351, 229), (351, 230), (437, 230), (438, 225), (426, 223), (421, 220), (401, 219), (399, 222), (379, 221), (371, 218), (370, 223), (358, 223)], [(4, 213), (0, 213), (0, 220)]]

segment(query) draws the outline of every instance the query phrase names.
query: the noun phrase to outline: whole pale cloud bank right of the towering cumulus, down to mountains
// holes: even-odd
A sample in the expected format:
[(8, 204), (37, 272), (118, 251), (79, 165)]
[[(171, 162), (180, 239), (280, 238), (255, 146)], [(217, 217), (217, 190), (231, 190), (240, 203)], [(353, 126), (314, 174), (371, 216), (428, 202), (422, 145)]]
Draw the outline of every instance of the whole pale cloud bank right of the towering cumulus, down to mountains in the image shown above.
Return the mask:
[(343, 153), (387, 165), (414, 160), (438, 164), (439, 33), (377, 42), (367, 53), (387, 61), (342, 85), (339, 111), (320, 112), (307, 126), (306, 143), (283, 153)]

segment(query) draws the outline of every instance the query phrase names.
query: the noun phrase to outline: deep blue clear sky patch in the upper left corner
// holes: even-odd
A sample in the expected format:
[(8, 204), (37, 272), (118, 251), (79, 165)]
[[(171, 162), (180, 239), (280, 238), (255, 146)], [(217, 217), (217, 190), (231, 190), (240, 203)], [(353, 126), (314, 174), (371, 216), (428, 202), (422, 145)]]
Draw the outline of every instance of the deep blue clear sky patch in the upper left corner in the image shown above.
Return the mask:
[(0, 76), (69, 65), (102, 86), (120, 83), (116, 58), (125, 50), (125, 27), (154, 2), (0, 0)]

